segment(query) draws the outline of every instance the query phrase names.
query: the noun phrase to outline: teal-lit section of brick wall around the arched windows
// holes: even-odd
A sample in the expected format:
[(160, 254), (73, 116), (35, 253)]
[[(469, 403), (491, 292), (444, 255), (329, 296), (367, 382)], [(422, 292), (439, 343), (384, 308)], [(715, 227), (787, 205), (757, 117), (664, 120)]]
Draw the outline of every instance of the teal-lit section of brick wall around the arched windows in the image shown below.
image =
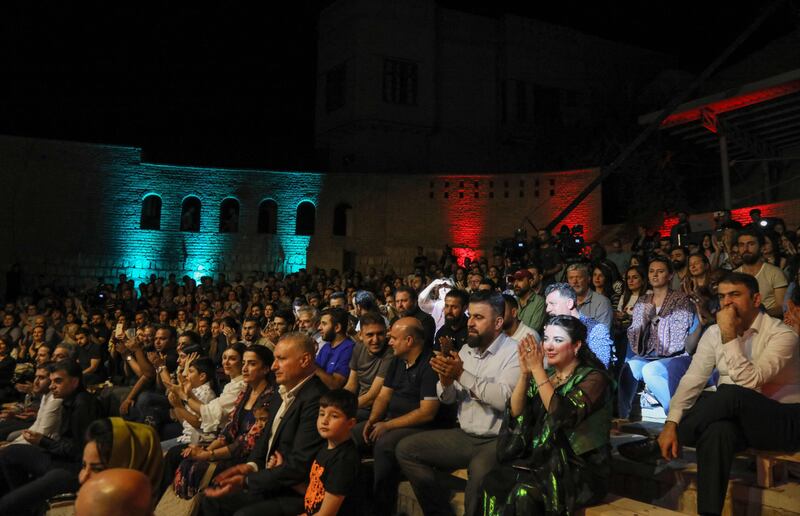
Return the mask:
[[(145, 280), (151, 274), (174, 272), (195, 279), (218, 272), (253, 269), (296, 272), (306, 267), (312, 236), (296, 235), (297, 207), (305, 201), (317, 206), (323, 175), (312, 172), (272, 172), (180, 167), (131, 163), (106, 165), (105, 212), (111, 223), (106, 251), (129, 278)], [(142, 203), (149, 195), (161, 200), (160, 230), (141, 229)], [(180, 231), (182, 202), (200, 200), (200, 231)], [(274, 199), (277, 224), (274, 235), (258, 232), (260, 202)], [(220, 232), (223, 201), (239, 203), (236, 232)], [(319, 214), (317, 214), (317, 217)]]

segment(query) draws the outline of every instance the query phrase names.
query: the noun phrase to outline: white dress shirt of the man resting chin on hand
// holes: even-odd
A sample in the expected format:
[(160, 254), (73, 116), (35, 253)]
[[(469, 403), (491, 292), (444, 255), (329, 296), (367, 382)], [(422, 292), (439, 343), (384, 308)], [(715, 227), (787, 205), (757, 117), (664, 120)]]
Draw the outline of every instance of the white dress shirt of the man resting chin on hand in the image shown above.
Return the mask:
[(743, 335), (724, 344), (719, 326), (706, 330), (672, 396), (667, 421), (680, 422), (715, 367), (717, 385), (739, 385), (781, 403), (800, 403), (798, 336), (782, 321), (760, 313)]

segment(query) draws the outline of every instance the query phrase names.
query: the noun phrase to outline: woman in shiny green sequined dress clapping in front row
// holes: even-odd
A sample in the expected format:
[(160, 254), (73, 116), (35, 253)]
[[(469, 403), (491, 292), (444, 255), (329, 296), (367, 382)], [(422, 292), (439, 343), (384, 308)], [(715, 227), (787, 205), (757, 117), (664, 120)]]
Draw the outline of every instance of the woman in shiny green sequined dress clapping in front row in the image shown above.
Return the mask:
[[(572, 514), (608, 492), (613, 381), (575, 317), (519, 343), (520, 378), (484, 480), (485, 515)], [(544, 359), (548, 367), (544, 367)]]

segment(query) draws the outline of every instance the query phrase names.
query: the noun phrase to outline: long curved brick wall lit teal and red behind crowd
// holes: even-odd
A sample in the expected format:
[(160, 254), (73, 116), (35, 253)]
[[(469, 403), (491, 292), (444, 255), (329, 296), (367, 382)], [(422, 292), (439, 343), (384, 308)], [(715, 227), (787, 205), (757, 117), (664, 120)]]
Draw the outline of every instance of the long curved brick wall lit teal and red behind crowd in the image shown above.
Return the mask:
[[(19, 262), (34, 282), (91, 282), (119, 273), (193, 274), (299, 267), (409, 268), (416, 246), (490, 252), (517, 227), (543, 226), (596, 169), (518, 174), (324, 174), (166, 166), (141, 149), (0, 136), (5, 217), (0, 266)], [(161, 230), (139, 229), (142, 201), (162, 199)], [(180, 231), (181, 203), (201, 203), (197, 233)], [(239, 231), (219, 232), (220, 204), (240, 205)], [(257, 232), (259, 204), (278, 206), (277, 233)], [(297, 206), (316, 206), (314, 236), (295, 235)], [(333, 235), (337, 205), (351, 206), (347, 236)], [(600, 230), (601, 192), (565, 221)]]

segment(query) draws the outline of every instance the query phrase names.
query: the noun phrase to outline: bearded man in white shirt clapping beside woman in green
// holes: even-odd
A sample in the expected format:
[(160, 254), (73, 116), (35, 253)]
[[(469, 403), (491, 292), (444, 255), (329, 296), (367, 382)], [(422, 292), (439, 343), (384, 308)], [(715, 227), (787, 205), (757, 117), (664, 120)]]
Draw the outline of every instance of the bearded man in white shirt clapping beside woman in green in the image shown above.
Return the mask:
[(422, 432), (397, 445), (397, 461), (425, 514), (451, 514), (449, 490), (437, 477), (457, 468), (468, 470), (464, 513), (476, 514), (483, 477), (497, 462), (497, 435), (519, 377), (516, 342), (503, 333), (504, 312), (501, 294), (473, 294), (467, 346), (431, 359), (439, 400), (457, 406), (458, 428)]

